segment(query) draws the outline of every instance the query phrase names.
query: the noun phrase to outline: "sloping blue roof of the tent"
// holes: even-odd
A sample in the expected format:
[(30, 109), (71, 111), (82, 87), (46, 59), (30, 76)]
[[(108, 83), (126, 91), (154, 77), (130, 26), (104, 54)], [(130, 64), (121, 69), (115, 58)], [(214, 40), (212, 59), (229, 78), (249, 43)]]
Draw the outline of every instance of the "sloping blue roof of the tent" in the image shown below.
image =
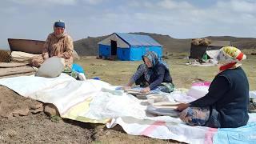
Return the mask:
[(148, 35), (115, 33), (130, 46), (162, 46)]

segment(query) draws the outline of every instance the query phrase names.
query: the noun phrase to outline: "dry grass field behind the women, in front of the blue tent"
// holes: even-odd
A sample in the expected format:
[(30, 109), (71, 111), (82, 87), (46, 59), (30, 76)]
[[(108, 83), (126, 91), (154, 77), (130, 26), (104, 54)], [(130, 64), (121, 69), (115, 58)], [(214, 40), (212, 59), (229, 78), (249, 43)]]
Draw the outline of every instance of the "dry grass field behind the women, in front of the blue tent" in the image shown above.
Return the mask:
[[(178, 88), (189, 89), (192, 82), (200, 80), (211, 81), (218, 72), (217, 66), (186, 66), (185, 63), (190, 60), (182, 59), (184, 57), (186, 57), (185, 53), (174, 54), (165, 60), (170, 66), (171, 76), (174, 79), (175, 86)], [(142, 62), (108, 61), (96, 59), (95, 57), (86, 57), (81, 58), (77, 63), (84, 67), (87, 78), (99, 77), (102, 81), (113, 85), (124, 85)], [(242, 62), (242, 68), (246, 71), (250, 82), (250, 90), (256, 90), (255, 63), (256, 56), (250, 54)]]

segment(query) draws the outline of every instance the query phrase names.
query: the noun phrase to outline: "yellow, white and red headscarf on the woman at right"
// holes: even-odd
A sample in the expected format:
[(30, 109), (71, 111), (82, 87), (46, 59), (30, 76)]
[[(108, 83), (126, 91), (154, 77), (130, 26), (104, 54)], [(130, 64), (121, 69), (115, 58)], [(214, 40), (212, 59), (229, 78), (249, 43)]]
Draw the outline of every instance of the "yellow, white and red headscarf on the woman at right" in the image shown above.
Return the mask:
[(225, 46), (220, 50), (209, 50), (206, 51), (206, 54), (218, 61), (220, 71), (237, 68), (242, 65), (241, 61), (246, 59), (246, 55), (234, 46)]

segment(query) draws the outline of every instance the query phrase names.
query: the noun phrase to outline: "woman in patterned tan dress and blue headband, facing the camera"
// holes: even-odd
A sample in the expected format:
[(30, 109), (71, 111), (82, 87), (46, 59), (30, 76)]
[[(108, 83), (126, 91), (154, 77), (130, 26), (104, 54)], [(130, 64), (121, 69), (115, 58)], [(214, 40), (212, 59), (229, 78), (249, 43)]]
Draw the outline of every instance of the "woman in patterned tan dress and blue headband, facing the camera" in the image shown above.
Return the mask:
[(40, 67), (42, 62), (50, 57), (65, 58), (66, 66), (72, 69), (73, 64), (73, 40), (66, 34), (65, 22), (54, 22), (54, 32), (48, 35), (43, 46), (42, 56), (31, 58), (30, 65)]

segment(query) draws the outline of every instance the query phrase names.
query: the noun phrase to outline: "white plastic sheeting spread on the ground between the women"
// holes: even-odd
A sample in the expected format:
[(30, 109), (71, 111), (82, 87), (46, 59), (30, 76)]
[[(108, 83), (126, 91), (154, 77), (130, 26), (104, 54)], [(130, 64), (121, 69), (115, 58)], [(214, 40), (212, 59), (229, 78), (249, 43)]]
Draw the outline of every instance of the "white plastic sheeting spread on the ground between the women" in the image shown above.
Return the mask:
[[(187, 126), (179, 118), (153, 117), (146, 113), (146, 106), (142, 105), (142, 101), (99, 80), (76, 81), (61, 74), (58, 78), (3, 78), (0, 79), (0, 85), (7, 86), (24, 97), (53, 103), (62, 118), (105, 123), (107, 121), (104, 119), (111, 118), (106, 123), (107, 127), (118, 124), (128, 134), (188, 143), (211, 143), (216, 139), (214, 134), (218, 131), (204, 126)], [(168, 97), (191, 101), (184, 92), (175, 92)], [(255, 115), (250, 114), (250, 122), (256, 122)]]

